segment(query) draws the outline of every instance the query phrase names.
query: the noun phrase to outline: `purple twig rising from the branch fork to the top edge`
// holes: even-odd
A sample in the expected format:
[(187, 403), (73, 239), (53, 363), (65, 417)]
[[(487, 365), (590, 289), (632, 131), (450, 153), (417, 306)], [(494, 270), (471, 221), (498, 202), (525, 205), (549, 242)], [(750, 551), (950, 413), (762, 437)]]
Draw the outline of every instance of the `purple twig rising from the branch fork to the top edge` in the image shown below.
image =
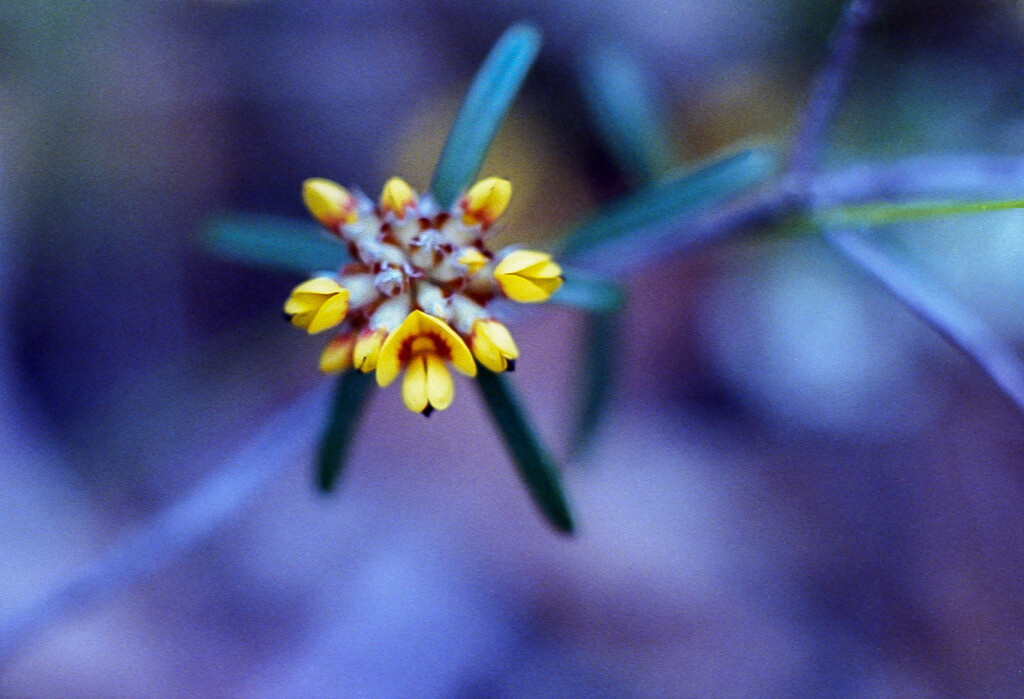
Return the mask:
[(864, 28), (873, 10), (874, 0), (852, 0), (833, 34), (793, 139), (788, 170), (796, 175), (809, 176), (821, 159), (826, 134), (853, 73)]

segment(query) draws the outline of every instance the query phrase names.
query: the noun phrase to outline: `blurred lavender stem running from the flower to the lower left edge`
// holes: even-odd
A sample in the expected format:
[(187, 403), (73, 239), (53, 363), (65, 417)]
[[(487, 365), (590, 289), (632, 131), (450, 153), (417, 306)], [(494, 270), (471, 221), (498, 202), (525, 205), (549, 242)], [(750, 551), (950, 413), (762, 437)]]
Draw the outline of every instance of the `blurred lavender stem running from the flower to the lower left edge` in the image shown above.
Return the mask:
[(150, 574), (206, 538), (252, 503), (253, 495), (309, 448), (326, 404), (322, 387), (272, 418), (257, 436), (225, 460), (181, 500), (116, 543), (71, 580), (0, 619), (0, 668), (35, 636)]

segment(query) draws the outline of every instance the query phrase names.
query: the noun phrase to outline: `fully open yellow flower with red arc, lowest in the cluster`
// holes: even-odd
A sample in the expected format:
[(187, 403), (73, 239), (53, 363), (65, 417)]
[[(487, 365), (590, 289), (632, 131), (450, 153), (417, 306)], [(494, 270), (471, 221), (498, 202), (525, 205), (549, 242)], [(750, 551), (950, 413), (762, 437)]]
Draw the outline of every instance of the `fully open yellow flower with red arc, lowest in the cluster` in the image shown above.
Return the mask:
[(462, 338), (443, 320), (415, 310), (381, 348), (377, 384), (390, 385), (404, 368), (401, 399), (406, 407), (429, 416), (451, 405), (455, 396), (446, 361), (467, 377), (476, 376), (476, 362)]

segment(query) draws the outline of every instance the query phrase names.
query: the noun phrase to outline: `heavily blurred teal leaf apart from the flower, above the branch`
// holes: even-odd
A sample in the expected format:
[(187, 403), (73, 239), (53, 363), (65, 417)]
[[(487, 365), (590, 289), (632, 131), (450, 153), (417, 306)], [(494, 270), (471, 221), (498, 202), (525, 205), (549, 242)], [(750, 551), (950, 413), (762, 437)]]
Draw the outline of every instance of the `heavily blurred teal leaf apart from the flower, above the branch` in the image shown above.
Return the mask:
[(605, 145), (637, 182), (668, 170), (673, 145), (649, 81), (634, 56), (603, 47), (584, 62), (583, 93)]

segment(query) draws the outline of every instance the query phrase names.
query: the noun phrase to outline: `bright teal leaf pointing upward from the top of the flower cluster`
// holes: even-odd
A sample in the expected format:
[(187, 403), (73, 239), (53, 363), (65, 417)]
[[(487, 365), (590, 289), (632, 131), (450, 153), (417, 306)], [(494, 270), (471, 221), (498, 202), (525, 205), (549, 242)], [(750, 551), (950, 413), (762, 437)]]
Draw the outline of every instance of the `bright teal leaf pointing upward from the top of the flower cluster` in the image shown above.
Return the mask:
[(441, 149), (430, 190), (441, 208), (455, 204), (483, 165), (490, 141), (541, 49), (540, 33), (528, 25), (508, 29), (477, 72)]

